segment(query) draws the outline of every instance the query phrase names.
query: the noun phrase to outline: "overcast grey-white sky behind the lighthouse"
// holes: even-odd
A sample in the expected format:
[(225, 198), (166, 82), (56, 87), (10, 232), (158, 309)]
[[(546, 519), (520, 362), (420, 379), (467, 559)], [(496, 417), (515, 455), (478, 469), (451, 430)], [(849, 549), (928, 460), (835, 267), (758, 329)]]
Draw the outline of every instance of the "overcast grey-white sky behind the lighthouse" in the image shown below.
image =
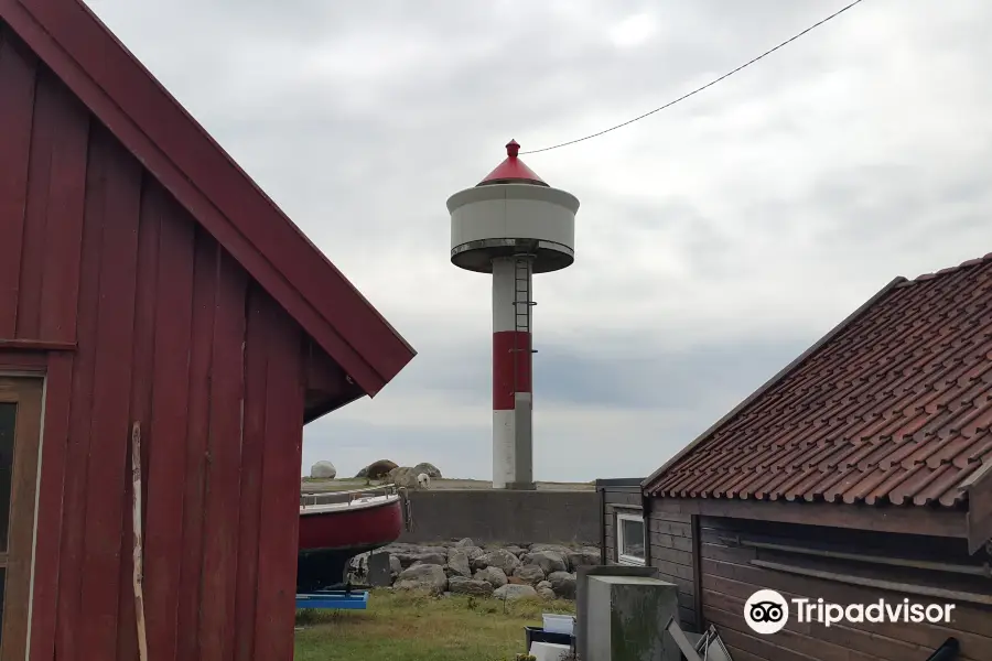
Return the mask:
[[(490, 281), (448, 197), (658, 107), (848, 0), (89, 0), (419, 351), (304, 472), (490, 477)], [(538, 275), (538, 479), (643, 477), (895, 275), (992, 252), (992, 2), (865, 0), (613, 133), (522, 156), (579, 197)]]

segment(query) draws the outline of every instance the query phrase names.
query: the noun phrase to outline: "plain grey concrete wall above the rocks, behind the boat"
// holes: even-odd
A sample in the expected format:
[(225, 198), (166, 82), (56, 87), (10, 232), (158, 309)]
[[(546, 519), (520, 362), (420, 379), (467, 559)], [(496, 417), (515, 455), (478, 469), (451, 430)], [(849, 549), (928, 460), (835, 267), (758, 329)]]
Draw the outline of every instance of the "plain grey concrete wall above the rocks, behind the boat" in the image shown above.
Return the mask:
[(599, 545), (600, 501), (593, 490), (502, 489), (410, 492), (413, 530), (401, 542), (471, 538), (478, 543), (584, 542)]

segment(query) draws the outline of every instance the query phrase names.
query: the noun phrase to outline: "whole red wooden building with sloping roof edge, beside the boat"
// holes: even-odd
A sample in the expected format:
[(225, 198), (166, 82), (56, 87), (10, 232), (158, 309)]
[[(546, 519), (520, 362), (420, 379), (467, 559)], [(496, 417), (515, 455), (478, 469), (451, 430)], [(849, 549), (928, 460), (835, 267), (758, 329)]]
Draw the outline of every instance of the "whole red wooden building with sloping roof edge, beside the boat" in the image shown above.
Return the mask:
[[(76, 0), (0, 0), (0, 661), (292, 658), (303, 424), (413, 350)], [(2, 534), (6, 533), (6, 534)]]

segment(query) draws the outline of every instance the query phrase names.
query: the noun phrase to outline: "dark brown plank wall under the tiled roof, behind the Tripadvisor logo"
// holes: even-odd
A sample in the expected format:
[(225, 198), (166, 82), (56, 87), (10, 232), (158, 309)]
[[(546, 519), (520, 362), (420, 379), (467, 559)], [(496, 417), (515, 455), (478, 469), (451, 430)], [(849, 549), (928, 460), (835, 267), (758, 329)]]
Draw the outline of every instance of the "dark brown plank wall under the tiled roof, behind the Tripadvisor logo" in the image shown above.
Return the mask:
[[(796, 553), (784, 553), (741, 545), (740, 541), (758, 541), (785, 545), (819, 549), (827, 545), (843, 545), (845, 540), (854, 535), (845, 535), (835, 531), (829, 540), (821, 535), (810, 535), (800, 527), (768, 524), (756, 521), (703, 518), (701, 522), (701, 567), (702, 567), (702, 603), (708, 620), (715, 624), (724, 640), (733, 647), (754, 654), (765, 654), (767, 659), (822, 659), (832, 660), (867, 660), (902, 661), (904, 659), (925, 659), (948, 637), (956, 637), (961, 642), (961, 659), (978, 661), (992, 658), (992, 607), (984, 608), (958, 603), (955, 609), (956, 621), (952, 626), (931, 624), (839, 624), (827, 628), (818, 624), (798, 622), (790, 617), (783, 635), (759, 637), (754, 635), (743, 618), (744, 602), (757, 589), (778, 590), (787, 599), (807, 597), (816, 600), (838, 603), (874, 603), (885, 598), (889, 603), (899, 603), (909, 598), (910, 603), (942, 603), (944, 599), (914, 596), (849, 585), (822, 578), (799, 576), (790, 573), (769, 571), (751, 564), (754, 560), (768, 560), (795, 566), (832, 571), (847, 576), (871, 576), (878, 579), (898, 581), (907, 584), (949, 585), (955, 583), (953, 575), (925, 576), (926, 572), (907, 571), (902, 567), (864, 565), (864, 563), (842, 562), (839, 560), (811, 559)], [(852, 544), (849, 552), (859, 552), (870, 540), (858, 537), (858, 545)], [(963, 543), (961, 540), (955, 540)], [(892, 535), (878, 535), (875, 543), (892, 544), (898, 548), (898, 540)], [(939, 551), (940, 540), (929, 548)], [(919, 554), (926, 548), (903, 540), (904, 553)], [(862, 551), (863, 552), (863, 551)], [(897, 557), (893, 553), (891, 557)], [(947, 553), (935, 553), (931, 560), (947, 562)], [(859, 566), (862, 565), (862, 566)], [(852, 573), (855, 572), (855, 573)], [(982, 590), (992, 595), (992, 585), (988, 579), (966, 579), (972, 590)], [(757, 639), (761, 639), (758, 642)], [(734, 640), (736, 642), (731, 642)], [(736, 657), (735, 657), (736, 658)]]

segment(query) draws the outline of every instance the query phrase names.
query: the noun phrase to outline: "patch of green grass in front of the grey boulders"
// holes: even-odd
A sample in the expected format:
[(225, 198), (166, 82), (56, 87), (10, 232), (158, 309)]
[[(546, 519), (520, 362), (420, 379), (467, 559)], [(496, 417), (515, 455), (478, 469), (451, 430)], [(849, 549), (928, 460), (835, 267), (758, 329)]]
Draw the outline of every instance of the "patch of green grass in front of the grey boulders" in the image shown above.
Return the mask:
[(572, 602), (373, 590), (367, 610), (301, 610), (295, 661), (503, 661), (524, 650), (524, 627)]

